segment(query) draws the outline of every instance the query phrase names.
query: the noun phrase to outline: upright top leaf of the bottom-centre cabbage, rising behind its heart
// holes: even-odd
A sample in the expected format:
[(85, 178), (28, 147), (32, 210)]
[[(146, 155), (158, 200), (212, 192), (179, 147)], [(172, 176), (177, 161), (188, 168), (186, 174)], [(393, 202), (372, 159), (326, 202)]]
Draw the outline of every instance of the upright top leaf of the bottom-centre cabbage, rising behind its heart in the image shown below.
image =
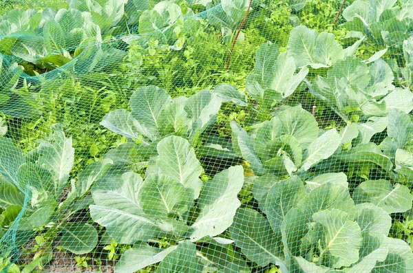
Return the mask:
[(176, 179), (185, 188), (190, 188), (193, 190), (193, 199), (198, 198), (202, 187), (202, 166), (188, 140), (172, 135), (161, 140), (157, 150), (158, 172)]

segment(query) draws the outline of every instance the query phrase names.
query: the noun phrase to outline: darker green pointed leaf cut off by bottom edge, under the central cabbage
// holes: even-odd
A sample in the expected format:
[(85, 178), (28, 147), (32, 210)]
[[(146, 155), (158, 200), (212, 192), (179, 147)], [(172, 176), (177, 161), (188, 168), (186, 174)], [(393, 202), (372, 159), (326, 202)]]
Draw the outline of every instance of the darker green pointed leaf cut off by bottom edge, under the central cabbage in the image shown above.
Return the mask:
[(196, 245), (191, 241), (184, 241), (178, 248), (167, 254), (165, 259), (156, 267), (156, 273), (182, 272), (197, 273), (202, 272), (202, 264), (196, 255)]

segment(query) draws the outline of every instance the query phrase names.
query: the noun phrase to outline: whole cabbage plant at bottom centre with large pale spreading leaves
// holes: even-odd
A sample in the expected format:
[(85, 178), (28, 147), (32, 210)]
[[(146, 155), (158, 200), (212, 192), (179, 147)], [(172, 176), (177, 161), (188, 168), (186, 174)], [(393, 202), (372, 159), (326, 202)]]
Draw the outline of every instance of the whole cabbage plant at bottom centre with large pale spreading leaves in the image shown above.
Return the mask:
[[(127, 172), (95, 184), (90, 214), (116, 242), (134, 243), (117, 263), (118, 272), (134, 272), (160, 261), (157, 270), (198, 272), (201, 263), (193, 242), (231, 243), (216, 236), (231, 226), (240, 206), (243, 168), (228, 168), (202, 182), (202, 166), (187, 140), (169, 136), (156, 149), (158, 156), (147, 167), (145, 179)], [(158, 241), (164, 237), (167, 248)], [(159, 248), (148, 243), (158, 243)]]

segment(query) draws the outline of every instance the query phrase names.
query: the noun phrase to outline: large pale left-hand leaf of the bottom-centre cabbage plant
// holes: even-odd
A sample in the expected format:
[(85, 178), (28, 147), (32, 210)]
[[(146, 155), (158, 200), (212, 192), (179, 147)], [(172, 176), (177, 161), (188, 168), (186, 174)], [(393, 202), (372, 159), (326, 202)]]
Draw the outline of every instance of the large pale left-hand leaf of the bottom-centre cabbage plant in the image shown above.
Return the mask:
[(138, 199), (142, 184), (140, 175), (125, 173), (102, 179), (92, 188), (95, 205), (89, 206), (90, 215), (118, 243), (149, 239), (158, 232)]

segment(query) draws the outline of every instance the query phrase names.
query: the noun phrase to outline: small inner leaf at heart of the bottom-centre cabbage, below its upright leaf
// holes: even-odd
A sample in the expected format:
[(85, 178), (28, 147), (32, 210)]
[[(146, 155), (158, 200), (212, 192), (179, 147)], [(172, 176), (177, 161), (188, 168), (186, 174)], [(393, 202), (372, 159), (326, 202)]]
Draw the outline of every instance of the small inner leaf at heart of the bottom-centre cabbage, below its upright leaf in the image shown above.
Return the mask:
[[(140, 192), (140, 201), (148, 217), (167, 219), (171, 212), (186, 212), (192, 204), (193, 195), (180, 182), (167, 175), (148, 175)], [(177, 205), (186, 209), (177, 211)]]

